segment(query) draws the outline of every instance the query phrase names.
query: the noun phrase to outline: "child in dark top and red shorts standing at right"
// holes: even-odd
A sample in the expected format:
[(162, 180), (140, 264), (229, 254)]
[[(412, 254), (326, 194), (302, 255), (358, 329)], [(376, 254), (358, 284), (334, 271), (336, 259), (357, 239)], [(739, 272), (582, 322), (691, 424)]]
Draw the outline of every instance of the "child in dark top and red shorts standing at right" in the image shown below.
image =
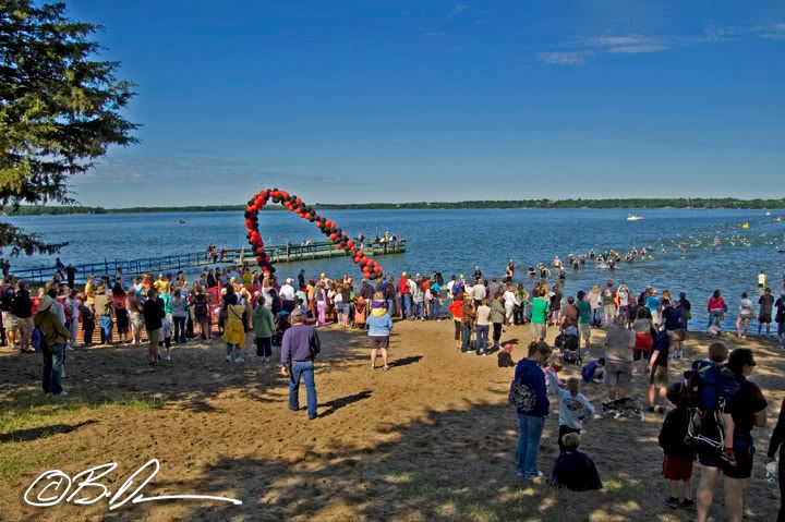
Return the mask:
[[(665, 506), (672, 509), (692, 508), (692, 461), (695, 452), (685, 441), (690, 423), (690, 411), (680, 404), (681, 383), (668, 387), (667, 398), (676, 406), (665, 415), (660, 430), (660, 447), (665, 452), (663, 477), (667, 481), (668, 498)], [(684, 483), (684, 500), (679, 503), (679, 483)]]

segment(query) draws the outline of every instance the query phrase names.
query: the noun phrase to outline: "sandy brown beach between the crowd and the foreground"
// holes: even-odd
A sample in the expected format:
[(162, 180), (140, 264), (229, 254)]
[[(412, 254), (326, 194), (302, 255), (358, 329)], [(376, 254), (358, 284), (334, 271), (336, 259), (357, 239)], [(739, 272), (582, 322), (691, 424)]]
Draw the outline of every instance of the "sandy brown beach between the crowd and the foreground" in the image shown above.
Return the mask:
[[(47, 400), (38, 388), (40, 356), (0, 351), (0, 517), (22, 520), (319, 520), (319, 521), (616, 521), (692, 520), (695, 512), (663, 505), (665, 483), (656, 436), (659, 414), (640, 420), (588, 420), (583, 447), (604, 482), (599, 493), (572, 494), (516, 476), (515, 412), (507, 404), (512, 368), (495, 355), (462, 355), (450, 320), (397, 323), (392, 368), (370, 368), (363, 332), (321, 330), (317, 362), (319, 418), (287, 409), (287, 381), (277, 365), (254, 355), (243, 366), (224, 362), (224, 344), (190, 343), (159, 367), (145, 364), (145, 348), (78, 349), (68, 353), (71, 396)], [(550, 340), (553, 339), (551, 332)], [(591, 357), (602, 354), (593, 330)], [(524, 354), (529, 327), (508, 327), (503, 341)], [(251, 347), (249, 338), (247, 345)], [(735, 348), (735, 339), (727, 339)], [(689, 359), (706, 338), (691, 335)], [(745, 341), (756, 352), (751, 379), (769, 401), (770, 424), (756, 429), (757, 457), (746, 494), (747, 520), (773, 520), (775, 484), (764, 478), (765, 448), (783, 396), (782, 352), (773, 342)], [(275, 354), (277, 355), (277, 349)], [(671, 377), (688, 360), (671, 365)], [(567, 366), (561, 377), (577, 375)], [(631, 396), (643, 399), (638, 375)], [(585, 385), (597, 408), (601, 385)], [(304, 406), (304, 390), (302, 405)], [(557, 454), (555, 401), (540, 468)], [(33, 508), (23, 501), (41, 472), (76, 473), (107, 462), (102, 479), (116, 490), (152, 458), (160, 471), (147, 497), (172, 494), (227, 496), (241, 506), (206, 501), (150, 501), (109, 510), (60, 502)], [(698, 466), (693, 474), (697, 481)], [(75, 486), (72, 486), (72, 490)], [(87, 493), (87, 490), (85, 491)], [(90, 493), (96, 493), (90, 491)], [(724, 520), (721, 500), (714, 520)]]

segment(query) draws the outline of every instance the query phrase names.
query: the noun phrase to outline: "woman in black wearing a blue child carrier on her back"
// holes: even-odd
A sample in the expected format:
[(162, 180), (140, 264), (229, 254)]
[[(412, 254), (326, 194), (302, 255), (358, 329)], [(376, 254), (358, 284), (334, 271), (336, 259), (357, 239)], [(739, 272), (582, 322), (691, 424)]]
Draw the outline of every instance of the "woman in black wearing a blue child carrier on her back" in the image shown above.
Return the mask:
[(701, 471), (700, 484), (698, 485), (698, 521), (705, 522), (709, 517), (709, 509), (714, 500), (714, 488), (720, 479), (720, 473), (724, 474), (725, 487), (725, 512), (729, 522), (741, 522), (744, 512), (744, 491), (747, 487), (747, 479), (752, 474), (752, 458), (754, 446), (752, 444), (752, 428), (765, 427), (766, 424), (766, 400), (760, 388), (754, 383), (747, 380), (757, 363), (752, 351), (745, 348), (734, 350), (728, 357), (726, 367), (734, 373), (739, 390), (725, 406), (725, 412), (730, 413), (734, 420), (733, 450), (736, 464), (724, 460), (716, 450), (704, 450), (698, 453)]

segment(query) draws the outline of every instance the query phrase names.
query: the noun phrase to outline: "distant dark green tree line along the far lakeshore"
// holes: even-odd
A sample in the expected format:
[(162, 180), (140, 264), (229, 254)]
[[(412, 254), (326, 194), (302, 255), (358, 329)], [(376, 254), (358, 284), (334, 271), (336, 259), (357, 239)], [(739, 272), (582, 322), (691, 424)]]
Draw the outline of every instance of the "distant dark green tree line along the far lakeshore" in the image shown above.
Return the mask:
[[(628, 198), (628, 199), (497, 199), (476, 202), (412, 202), (412, 203), (323, 203), (315, 207), (324, 210), (387, 210), (387, 209), (472, 209), (472, 208), (737, 208), (777, 209), (785, 208), (783, 199), (738, 199), (723, 198)], [(281, 210), (283, 207), (266, 207), (265, 210)], [(104, 208), (85, 206), (21, 205), (7, 207), (7, 216), (37, 216), (56, 214), (142, 214), (142, 213), (195, 213), (244, 210), (244, 205), (191, 205), (184, 207), (131, 207)]]

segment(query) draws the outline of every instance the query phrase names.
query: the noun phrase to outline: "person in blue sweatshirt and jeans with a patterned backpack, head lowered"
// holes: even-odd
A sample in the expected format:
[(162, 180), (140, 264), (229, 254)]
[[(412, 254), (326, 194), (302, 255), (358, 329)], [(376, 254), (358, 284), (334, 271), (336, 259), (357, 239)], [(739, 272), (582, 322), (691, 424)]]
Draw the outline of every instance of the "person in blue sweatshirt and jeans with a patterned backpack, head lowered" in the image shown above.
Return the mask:
[(538, 470), (536, 459), (540, 451), (545, 417), (551, 409), (545, 392), (545, 375), (542, 365), (551, 356), (552, 349), (542, 341), (529, 344), (529, 355), (518, 362), (515, 372), (514, 389), (518, 397), (518, 447), (516, 449), (516, 472), (521, 478), (533, 481), (543, 476)]

